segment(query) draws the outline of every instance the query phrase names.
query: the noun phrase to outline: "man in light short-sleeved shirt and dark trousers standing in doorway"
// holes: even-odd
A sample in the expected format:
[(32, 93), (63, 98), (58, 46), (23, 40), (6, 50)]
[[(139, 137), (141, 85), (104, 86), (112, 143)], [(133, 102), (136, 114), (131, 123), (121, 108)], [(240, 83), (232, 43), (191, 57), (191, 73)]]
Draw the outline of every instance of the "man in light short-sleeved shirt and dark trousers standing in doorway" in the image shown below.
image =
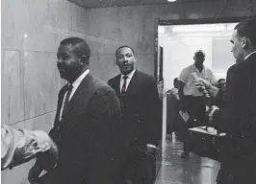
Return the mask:
[(194, 81), (197, 79), (203, 79), (212, 84), (217, 84), (213, 71), (203, 64), (205, 60), (204, 52), (201, 50), (196, 51), (194, 53), (193, 60), (194, 63), (192, 65), (182, 70), (178, 85), (182, 106), (190, 115), (190, 119), (184, 129), (184, 152), (182, 154), (182, 158), (187, 158), (190, 152), (187, 128), (199, 126), (200, 124), (204, 124), (206, 121), (206, 102), (204, 94), (196, 88)]

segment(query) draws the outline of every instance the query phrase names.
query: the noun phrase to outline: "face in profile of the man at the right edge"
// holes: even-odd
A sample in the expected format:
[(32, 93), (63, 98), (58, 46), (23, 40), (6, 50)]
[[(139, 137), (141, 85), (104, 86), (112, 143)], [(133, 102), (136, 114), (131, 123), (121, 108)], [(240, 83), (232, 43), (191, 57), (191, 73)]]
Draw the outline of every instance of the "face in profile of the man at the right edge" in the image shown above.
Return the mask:
[(233, 53), (233, 56), (237, 59), (237, 62), (243, 60), (245, 55), (245, 51), (243, 50), (244, 41), (243, 38), (238, 35), (237, 30), (233, 31), (230, 42), (232, 43), (231, 52)]

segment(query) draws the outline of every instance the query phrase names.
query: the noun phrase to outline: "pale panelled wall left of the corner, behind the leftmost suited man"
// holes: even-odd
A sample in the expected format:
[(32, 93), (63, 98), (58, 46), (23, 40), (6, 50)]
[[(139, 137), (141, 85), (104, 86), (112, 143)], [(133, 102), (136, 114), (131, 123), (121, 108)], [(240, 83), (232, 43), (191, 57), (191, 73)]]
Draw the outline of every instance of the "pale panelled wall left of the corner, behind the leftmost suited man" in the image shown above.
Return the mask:
[[(2, 125), (49, 131), (64, 84), (57, 48), (85, 37), (85, 10), (64, 0), (2, 0)], [(27, 184), (34, 161), (2, 172), (3, 184)]]

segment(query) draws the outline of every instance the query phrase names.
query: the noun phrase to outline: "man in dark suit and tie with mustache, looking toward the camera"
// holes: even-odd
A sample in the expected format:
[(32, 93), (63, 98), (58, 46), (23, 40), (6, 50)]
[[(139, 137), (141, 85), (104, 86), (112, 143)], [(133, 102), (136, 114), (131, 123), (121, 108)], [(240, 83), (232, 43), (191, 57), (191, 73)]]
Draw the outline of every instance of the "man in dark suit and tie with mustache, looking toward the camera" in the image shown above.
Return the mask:
[[(122, 109), (122, 136), (124, 140), (124, 175), (126, 183), (139, 183), (140, 149), (157, 145), (159, 139), (159, 95), (157, 82), (136, 70), (134, 50), (121, 46), (115, 52), (120, 75), (108, 83), (115, 89)], [(145, 182), (145, 181), (144, 181)]]

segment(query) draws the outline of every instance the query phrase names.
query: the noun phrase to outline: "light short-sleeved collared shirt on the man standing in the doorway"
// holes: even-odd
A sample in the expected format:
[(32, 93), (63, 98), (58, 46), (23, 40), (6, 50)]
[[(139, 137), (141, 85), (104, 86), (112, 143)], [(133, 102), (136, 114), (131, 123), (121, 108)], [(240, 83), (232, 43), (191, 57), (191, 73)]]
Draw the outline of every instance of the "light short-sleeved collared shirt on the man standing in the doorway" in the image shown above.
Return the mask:
[(195, 67), (194, 64), (184, 68), (179, 76), (179, 81), (182, 81), (185, 83), (183, 93), (184, 95), (192, 95), (194, 97), (201, 97), (204, 96), (202, 92), (200, 92), (194, 84), (194, 77), (192, 76), (192, 73), (195, 73), (197, 77), (202, 78), (206, 81), (210, 81), (212, 84), (217, 83), (216, 77), (212, 70), (207, 68), (206, 66), (203, 66), (203, 70), (200, 73), (198, 69)]

